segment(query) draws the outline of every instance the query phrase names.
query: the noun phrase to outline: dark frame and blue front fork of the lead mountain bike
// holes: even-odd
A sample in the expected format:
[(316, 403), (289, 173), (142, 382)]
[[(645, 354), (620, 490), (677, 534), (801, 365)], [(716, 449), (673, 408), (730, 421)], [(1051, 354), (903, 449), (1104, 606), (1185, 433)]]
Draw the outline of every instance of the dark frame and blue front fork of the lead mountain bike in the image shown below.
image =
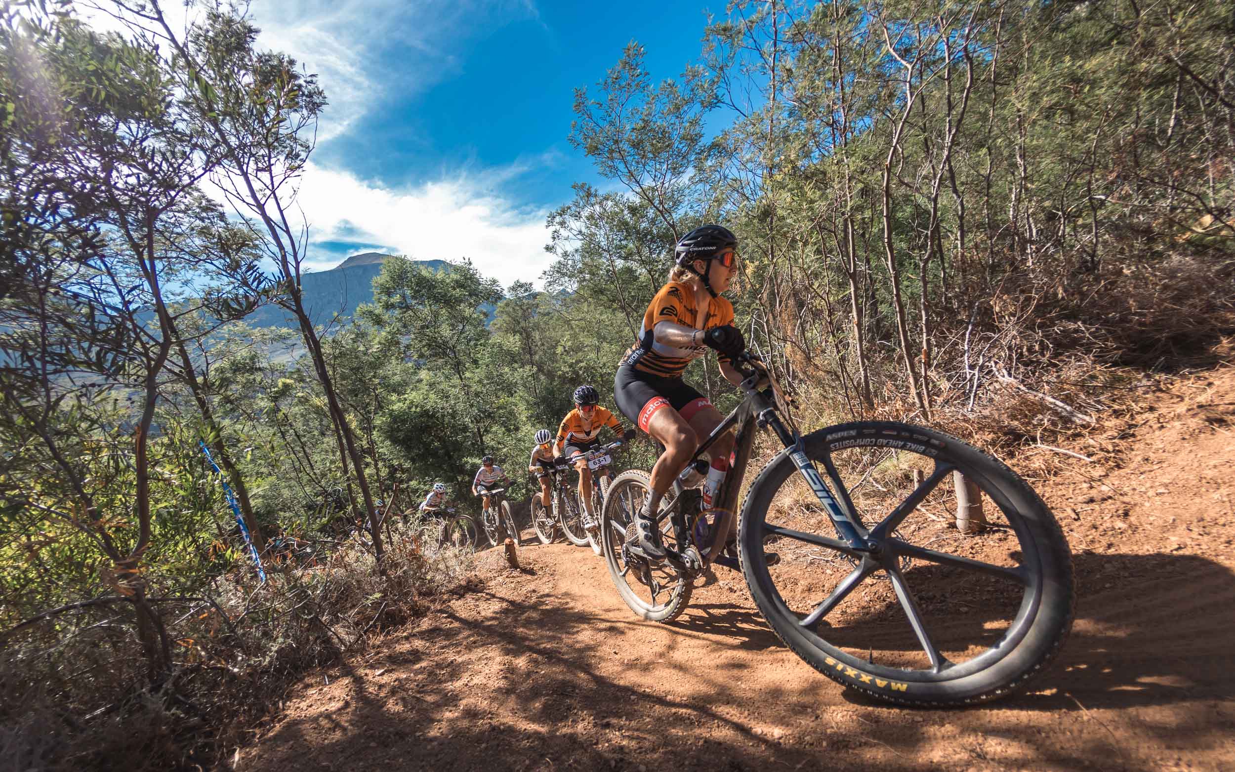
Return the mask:
[[(850, 550), (860, 553), (869, 552), (871, 545), (867, 541), (869, 531), (867, 531), (861, 521), (853, 516), (853, 503), (850, 500), (845, 487), (837, 483), (836, 488), (841, 492), (842, 499), (841, 501), (837, 501), (836, 497), (834, 497), (831, 490), (827, 488), (827, 484), (824, 483), (824, 479), (819, 476), (819, 471), (815, 469), (815, 464), (806, 458), (805, 447), (802, 443), (802, 435), (792, 431), (781, 420), (777, 411), (773, 387), (769, 385), (762, 392), (758, 390), (758, 382), (764, 377), (764, 373), (753, 367), (756, 359), (753, 359), (750, 355), (742, 355), (736, 362), (747, 362), (752, 364), (752, 367), (742, 368), (740, 371), (741, 374), (745, 376), (740, 388), (746, 394), (746, 399), (734, 408), (732, 413), (725, 416), (720, 425), (718, 425), (716, 429), (708, 435), (708, 438), (699, 445), (698, 450), (695, 450), (687, 464), (682, 467), (683, 469), (689, 468), (690, 464), (699, 461), (699, 457), (706, 452), (708, 448), (715, 445), (716, 440), (721, 435), (730, 431), (735, 426), (737, 427), (737, 436), (734, 441), (734, 463), (730, 464), (729, 474), (725, 476), (725, 480), (721, 483), (718, 495), (719, 504), (716, 509), (719, 509), (722, 514), (716, 522), (716, 527), (713, 529), (710, 535), (711, 543), (708, 545), (706, 553), (701, 557), (708, 562), (715, 560), (725, 546), (725, 540), (719, 539), (719, 536), (721, 534), (727, 536), (732, 529), (737, 509), (737, 494), (741, 490), (742, 479), (746, 477), (746, 467), (751, 459), (751, 447), (755, 443), (756, 427), (768, 427), (776, 434), (777, 438), (781, 440), (784, 445), (784, 451), (782, 452), (787, 452), (789, 458), (793, 459), (793, 464), (798, 468), (798, 473), (802, 474), (802, 477), (806, 480), (806, 484), (810, 485), (815, 498), (819, 499), (824, 511), (826, 511), (827, 516), (831, 519), (832, 527), (836, 529), (837, 536), (845, 541)], [(768, 378), (771, 378), (769, 374)], [(840, 479), (840, 474), (832, 464), (830, 457), (825, 459), (824, 467), (827, 471), (827, 476), (834, 482)], [(678, 473), (680, 474), (680, 469)], [(669, 499), (667, 505), (664, 505), (663, 509), (666, 511), (657, 518), (657, 521), (669, 516), (673, 522), (678, 543), (687, 545), (689, 543), (689, 524), (687, 522), (685, 514), (680, 513), (677, 506), (678, 499), (685, 492), (685, 488), (682, 487), (682, 482), (677, 478), (677, 476), (673, 478), (672, 492), (673, 498)], [(910, 503), (914, 506), (918, 504), (918, 501), (905, 501), (905, 504)], [(789, 529), (768, 530), (769, 532), (785, 536), (806, 536), (805, 534), (798, 534), (797, 531)], [(666, 552), (669, 556), (669, 562), (678, 564), (680, 568), (687, 568), (679, 552), (669, 547), (666, 547)]]

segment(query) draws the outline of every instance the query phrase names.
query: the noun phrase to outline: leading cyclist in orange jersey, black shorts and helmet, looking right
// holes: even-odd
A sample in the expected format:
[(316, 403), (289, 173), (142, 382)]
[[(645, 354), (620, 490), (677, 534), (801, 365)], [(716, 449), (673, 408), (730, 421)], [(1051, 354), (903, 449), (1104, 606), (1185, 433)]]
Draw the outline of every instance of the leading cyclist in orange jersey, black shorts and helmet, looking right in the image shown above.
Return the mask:
[[(618, 408), (664, 446), (652, 467), (651, 495), (635, 518), (632, 534), (655, 560), (666, 555), (656, 525), (661, 498), (700, 440), (722, 420), (706, 398), (682, 380), (682, 373), (710, 347), (718, 352), (721, 374), (736, 387), (742, 377), (731, 362), (746, 350), (742, 332), (734, 326), (734, 306), (720, 296), (737, 272), (737, 237), (726, 227), (704, 225), (683, 236), (674, 253), (677, 264), (669, 271), (669, 282), (643, 314), (638, 340), (622, 356), (614, 378)], [(732, 445), (729, 432), (710, 448), (704, 490), (708, 508), (729, 469)]]

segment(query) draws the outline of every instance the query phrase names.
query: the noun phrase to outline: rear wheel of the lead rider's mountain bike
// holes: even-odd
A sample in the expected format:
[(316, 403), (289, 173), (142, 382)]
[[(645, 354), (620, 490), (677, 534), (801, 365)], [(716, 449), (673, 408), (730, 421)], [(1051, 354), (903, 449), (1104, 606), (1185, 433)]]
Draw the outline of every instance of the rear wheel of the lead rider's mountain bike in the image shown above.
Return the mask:
[[(630, 610), (648, 621), (667, 623), (685, 610), (692, 581), (671, 563), (653, 563), (626, 547), (631, 521), (651, 489), (651, 477), (641, 469), (629, 469), (614, 479), (600, 514), (600, 551), (618, 594)], [(668, 518), (661, 524), (661, 537), (667, 547), (685, 546), (677, 543)]]

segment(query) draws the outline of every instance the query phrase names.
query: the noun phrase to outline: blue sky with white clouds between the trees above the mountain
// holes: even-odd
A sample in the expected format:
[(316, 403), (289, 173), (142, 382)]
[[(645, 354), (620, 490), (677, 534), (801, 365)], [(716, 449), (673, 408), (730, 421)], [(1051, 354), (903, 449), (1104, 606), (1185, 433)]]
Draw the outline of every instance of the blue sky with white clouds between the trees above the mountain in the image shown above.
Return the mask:
[(331, 100), (300, 189), (310, 266), (377, 250), (538, 283), (546, 212), (573, 182), (611, 187), (567, 142), (573, 89), (631, 40), (653, 79), (678, 75), (705, 1), (257, 0), (259, 43), (319, 73)]

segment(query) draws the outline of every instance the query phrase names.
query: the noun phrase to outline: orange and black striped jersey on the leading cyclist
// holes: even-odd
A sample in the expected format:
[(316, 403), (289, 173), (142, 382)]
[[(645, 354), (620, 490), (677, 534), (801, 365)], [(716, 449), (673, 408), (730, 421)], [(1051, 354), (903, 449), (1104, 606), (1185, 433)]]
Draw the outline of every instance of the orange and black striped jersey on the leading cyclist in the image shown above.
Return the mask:
[[(631, 346), (619, 364), (629, 364), (636, 371), (659, 376), (662, 378), (680, 378), (687, 364), (706, 353), (706, 346), (687, 346), (678, 348), (656, 340), (652, 330), (662, 321), (709, 330), (734, 324), (734, 305), (725, 298), (711, 298), (703, 321), (699, 321), (699, 309), (695, 304), (694, 288), (684, 282), (669, 282), (652, 298), (652, 304), (643, 314), (643, 325), (638, 340)], [(721, 362), (730, 358), (721, 355)]]

